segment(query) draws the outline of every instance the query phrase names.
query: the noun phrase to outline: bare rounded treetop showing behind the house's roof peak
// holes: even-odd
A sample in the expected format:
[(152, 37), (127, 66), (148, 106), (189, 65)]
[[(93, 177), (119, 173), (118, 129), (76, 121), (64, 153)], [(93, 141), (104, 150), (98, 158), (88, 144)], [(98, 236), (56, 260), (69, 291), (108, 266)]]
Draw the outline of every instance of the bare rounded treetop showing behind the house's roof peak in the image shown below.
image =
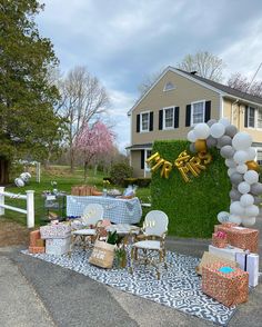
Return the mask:
[(223, 79), (223, 60), (208, 51), (187, 54), (178, 68), (185, 71), (196, 71), (198, 76), (220, 82)]

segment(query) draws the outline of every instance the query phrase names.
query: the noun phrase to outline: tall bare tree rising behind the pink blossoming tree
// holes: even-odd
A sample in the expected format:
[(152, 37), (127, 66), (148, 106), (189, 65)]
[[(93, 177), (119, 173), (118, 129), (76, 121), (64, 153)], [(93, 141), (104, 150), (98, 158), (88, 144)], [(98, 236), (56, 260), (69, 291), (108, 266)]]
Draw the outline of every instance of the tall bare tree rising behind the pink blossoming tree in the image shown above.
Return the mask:
[(67, 120), (67, 136), (70, 150), (70, 168), (74, 168), (73, 141), (84, 125), (95, 120), (105, 111), (109, 97), (97, 77), (85, 67), (69, 71), (61, 83), (60, 115)]

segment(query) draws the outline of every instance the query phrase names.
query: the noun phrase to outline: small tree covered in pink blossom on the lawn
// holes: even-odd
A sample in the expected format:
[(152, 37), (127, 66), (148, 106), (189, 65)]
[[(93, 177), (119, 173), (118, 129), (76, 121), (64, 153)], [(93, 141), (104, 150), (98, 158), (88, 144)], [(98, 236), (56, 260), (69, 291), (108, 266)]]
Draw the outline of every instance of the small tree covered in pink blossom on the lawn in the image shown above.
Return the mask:
[(83, 159), (84, 181), (90, 161), (99, 155), (107, 155), (113, 149), (114, 133), (101, 121), (93, 126), (85, 123), (78, 133), (74, 148)]

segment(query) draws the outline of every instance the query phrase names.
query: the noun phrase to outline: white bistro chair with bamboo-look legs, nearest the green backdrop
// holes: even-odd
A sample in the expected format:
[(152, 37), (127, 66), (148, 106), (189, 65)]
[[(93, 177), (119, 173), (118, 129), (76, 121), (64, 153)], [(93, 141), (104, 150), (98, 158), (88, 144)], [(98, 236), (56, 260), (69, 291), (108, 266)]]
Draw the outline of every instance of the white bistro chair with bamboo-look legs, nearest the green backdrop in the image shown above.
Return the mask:
[(140, 262), (152, 265), (157, 268), (158, 279), (160, 279), (160, 264), (165, 259), (164, 239), (168, 232), (169, 218), (160, 210), (151, 210), (144, 218), (143, 238), (137, 241), (131, 249), (131, 274), (133, 274), (133, 264)]

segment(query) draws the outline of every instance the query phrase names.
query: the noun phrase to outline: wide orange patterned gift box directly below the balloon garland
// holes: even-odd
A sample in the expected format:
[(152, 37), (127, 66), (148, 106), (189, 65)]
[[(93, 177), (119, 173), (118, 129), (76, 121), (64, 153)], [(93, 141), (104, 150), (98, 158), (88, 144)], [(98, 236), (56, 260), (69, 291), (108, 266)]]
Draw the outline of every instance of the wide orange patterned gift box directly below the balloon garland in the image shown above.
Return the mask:
[(250, 250), (258, 254), (259, 250), (259, 230), (238, 226), (215, 225), (214, 231), (226, 232), (228, 242), (243, 250)]

